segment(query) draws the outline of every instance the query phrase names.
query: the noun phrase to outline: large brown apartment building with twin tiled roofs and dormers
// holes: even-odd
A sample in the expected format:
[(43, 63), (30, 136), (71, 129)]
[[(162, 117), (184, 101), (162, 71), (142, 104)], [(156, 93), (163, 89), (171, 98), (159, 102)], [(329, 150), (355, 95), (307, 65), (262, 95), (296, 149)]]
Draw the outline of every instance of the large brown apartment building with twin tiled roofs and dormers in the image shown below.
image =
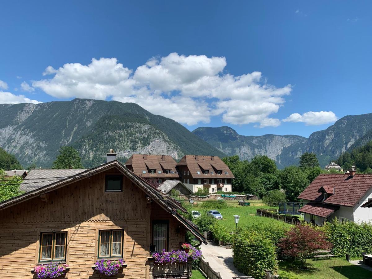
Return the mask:
[(159, 183), (180, 180), (194, 193), (199, 188), (208, 188), (209, 193), (231, 192), (231, 180), (235, 178), (217, 156), (185, 155), (176, 163), (168, 155), (134, 154), (125, 166), (138, 176), (154, 178)]

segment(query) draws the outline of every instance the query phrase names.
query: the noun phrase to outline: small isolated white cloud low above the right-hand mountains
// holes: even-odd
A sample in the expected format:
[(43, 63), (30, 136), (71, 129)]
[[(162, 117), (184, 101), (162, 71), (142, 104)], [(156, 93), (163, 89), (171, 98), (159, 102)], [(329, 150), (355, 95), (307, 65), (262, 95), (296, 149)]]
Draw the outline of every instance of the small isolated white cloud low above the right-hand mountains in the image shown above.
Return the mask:
[(306, 125), (322, 125), (335, 122), (337, 120), (336, 114), (331, 111), (320, 112), (305, 112), (302, 115), (299, 113), (292, 113), (283, 122), (304, 122)]

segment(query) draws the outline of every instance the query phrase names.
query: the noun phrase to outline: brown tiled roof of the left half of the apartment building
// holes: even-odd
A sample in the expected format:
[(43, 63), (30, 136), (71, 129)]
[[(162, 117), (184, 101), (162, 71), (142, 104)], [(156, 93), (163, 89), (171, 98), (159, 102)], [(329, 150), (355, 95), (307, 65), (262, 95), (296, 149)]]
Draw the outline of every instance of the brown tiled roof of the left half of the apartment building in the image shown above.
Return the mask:
[[(144, 157), (146, 159), (144, 159)], [(164, 160), (162, 160), (164, 158)], [(176, 161), (169, 155), (143, 155), (133, 154), (125, 166), (131, 166), (133, 172), (141, 177), (146, 178), (179, 178), (179, 174), (176, 170)], [(166, 166), (164, 169), (162, 166)], [(150, 170), (155, 170), (154, 174), (149, 173)], [(170, 170), (169, 174), (164, 173), (164, 170)], [(146, 171), (146, 173), (143, 173)], [(161, 173), (158, 173), (161, 171)], [(173, 171), (173, 173), (171, 173)]]

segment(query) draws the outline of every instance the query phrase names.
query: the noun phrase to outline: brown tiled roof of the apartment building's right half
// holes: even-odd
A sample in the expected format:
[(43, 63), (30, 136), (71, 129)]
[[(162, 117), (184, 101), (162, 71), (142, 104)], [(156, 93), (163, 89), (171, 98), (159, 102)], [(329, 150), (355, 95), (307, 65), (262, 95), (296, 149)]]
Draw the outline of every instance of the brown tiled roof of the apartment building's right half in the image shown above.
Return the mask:
[[(212, 156), (199, 155), (197, 158), (198, 160), (196, 160), (196, 155), (185, 155), (177, 166), (187, 166), (193, 178), (235, 178), (229, 167), (219, 157), (214, 156), (212, 160)], [(201, 166), (203, 169), (206, 168), (204, 170), (210, 170), (209, 174), (204, 174)], [(216, 170), (221, 170), (221, 174), (217, 174)]]

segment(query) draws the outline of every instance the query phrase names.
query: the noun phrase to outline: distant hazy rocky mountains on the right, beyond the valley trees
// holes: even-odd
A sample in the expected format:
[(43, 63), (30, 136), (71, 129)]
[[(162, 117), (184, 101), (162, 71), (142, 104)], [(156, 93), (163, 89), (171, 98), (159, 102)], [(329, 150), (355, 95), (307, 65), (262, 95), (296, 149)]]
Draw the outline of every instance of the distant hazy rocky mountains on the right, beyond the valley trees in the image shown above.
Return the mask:
[(314, 132), (309, 138), (296, 135), (238, 135), (230, 127), (200, 127), (193, 131), (203, 140), (228, 155), (248, 159), (256, 154), (267, 155), (278, 167), (298, 164), (304, 152), (317, 154), (321, 166), (336, 160), (353, 144), (372, 139), (372, 113), (348, 115), (325, 130)]

